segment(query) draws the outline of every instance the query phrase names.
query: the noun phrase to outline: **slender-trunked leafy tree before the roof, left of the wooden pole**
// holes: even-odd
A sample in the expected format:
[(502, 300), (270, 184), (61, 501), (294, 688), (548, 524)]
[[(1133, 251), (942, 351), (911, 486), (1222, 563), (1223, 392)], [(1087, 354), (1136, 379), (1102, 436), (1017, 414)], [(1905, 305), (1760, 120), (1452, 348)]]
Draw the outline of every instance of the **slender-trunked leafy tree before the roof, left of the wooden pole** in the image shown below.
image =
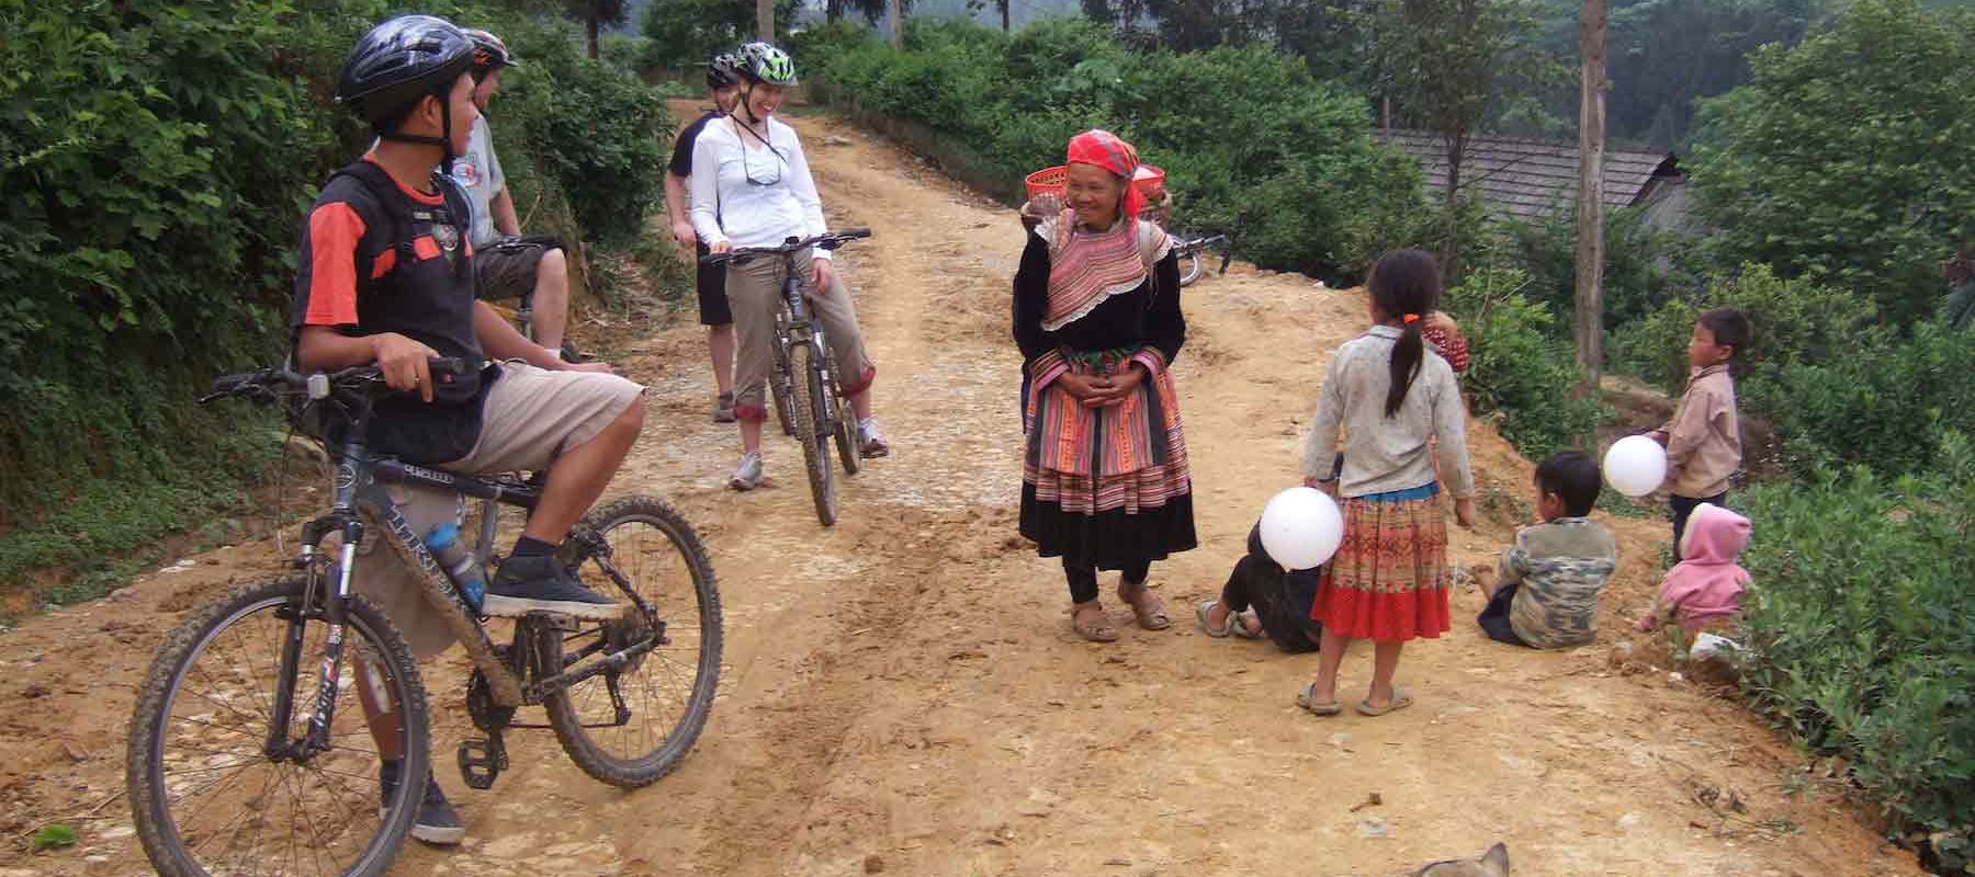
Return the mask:
[(1375, 93), (1394, 115), (1440, 134), (1446, 146), (1448, 233), (1440, 261), (1460, 275), (1462, 158), (1467, 138), (1491, 113), (1519, 101), (1521, 83), (1558, 77), (1562, 67), (1537, 45), (1535, 0), (1373, 0), (1363, 22), (1371, 41)]

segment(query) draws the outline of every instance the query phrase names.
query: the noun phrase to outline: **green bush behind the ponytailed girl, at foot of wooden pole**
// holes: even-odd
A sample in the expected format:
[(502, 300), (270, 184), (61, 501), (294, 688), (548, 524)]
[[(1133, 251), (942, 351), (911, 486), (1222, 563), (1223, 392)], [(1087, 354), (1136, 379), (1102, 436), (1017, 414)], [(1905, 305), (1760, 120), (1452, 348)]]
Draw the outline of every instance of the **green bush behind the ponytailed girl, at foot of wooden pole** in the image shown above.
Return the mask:
[(1556, 316), (1523, 294), (1519, 271), (1475, 269), (1448, 290), (1444, 308), (1469, 340), (1463, 385), (1475, 415), (1491, 415), (1515, 448), (1540, 460), (1588, 448), (1612, 411), (1578, 397), (1576, 350), (1558, 340)]

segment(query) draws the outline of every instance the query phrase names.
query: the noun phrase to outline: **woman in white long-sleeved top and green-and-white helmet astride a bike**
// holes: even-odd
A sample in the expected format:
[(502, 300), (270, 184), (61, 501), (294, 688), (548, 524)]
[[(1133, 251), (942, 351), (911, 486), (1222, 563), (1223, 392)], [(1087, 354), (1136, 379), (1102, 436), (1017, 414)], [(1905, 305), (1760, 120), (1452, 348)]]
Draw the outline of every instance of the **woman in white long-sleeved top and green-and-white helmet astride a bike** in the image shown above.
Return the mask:
[[(739, 105), (727, 119), (707, 122), (693, 142), (693, 229), (713, 253), (776, 247), (790, 237), (830, 231), (802, 140), (794, 128), (772, 119), (784, 89), (796, 85), (796, 63), (786, 51), (760, 41), (743, 45), (739, 59)], [(812, 308), (841, 369), (841, 391), (857, 413), (859, 450), (865, 456), (891, 450), (871, 417), (869, 391), (877, 367), (865, 354), (851, 294), (830, 267), (830, 251), (731, 263), (727, 298), (741, 342), (735, 361), (735, 417), (741, 421), (743, 446), (741, 464), (729, 480), (735, 490), (752, 490), (762, 478), (760, 431), (768, 419), (762, 393), (774, 363), (774, 314), (790, 265), (804, 273)]]

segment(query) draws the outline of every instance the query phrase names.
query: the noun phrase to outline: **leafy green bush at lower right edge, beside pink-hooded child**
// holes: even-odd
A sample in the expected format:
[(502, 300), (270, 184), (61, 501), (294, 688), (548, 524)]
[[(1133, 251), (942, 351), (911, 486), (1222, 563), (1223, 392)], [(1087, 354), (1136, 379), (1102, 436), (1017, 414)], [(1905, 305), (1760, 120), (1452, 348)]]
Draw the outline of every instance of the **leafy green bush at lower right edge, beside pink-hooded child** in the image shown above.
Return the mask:
[(1754, 709), (1839, 755), (1894, 830), (1975, 828), (1975, 450), (1926, 476), (1856, 468), (1742, 494)]

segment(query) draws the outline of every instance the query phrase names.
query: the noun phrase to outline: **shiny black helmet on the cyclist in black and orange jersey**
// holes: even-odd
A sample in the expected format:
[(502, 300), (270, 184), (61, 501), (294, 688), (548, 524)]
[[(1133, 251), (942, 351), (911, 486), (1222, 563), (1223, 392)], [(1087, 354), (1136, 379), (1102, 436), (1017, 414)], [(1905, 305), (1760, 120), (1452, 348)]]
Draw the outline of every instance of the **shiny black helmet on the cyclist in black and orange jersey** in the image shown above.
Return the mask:
[(446, 113), (446, 140), (399, 134), (405, 119), (421, 97), (436, 95), (446, 103), (452, 83), (474, 63), (474, 43), (458, 28), (433, 16), (399, 16), (363, 34), (350, 49), (344, 71), (336, 79), (336, 103), (350, 107), (387, 140), (425, 142), (446, 148), (452, 158), (452, 113)]

